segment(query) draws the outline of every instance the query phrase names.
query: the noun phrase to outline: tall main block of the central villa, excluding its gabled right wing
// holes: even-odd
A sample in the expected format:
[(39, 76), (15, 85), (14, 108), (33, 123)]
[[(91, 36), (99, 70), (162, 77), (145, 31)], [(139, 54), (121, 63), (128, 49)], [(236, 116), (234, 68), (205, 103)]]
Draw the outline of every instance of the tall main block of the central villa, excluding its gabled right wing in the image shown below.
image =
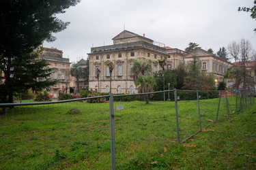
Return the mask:
[[(152, 39), (130, 31), (122, 31), (113, 38), (113, 45), (91, 48), (89, 57), (89, 90), (109, 92), (110, 73), (107, 63), (112, 62), (111, 92), (132, 94), (137, 92), (130, 69), (134, 61), (150, 61), (152, 71), (160, 70), (159, 60), (166, 59), (167, 69), (174, 69), (186, 53), (182, 50), (156, 46)], [(99, 82), (96, 70), (100, 69)], [(99, 87), (98, 87), (99, 84)]]

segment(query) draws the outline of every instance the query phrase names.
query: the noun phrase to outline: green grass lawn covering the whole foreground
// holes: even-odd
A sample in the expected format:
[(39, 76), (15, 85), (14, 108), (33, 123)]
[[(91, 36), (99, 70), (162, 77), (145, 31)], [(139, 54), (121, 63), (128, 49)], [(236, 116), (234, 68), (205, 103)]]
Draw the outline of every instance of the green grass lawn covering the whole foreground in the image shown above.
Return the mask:
[[(229, 112), (236, 110), (229, 98)], [(124, 109), (116, 110), (117, 105)], [(179, 101), (181, 141), (199, 131), (197, 101)], [(70, 109), (81, 114), (66, 114)], [(117, 169), (255, 169), (256, 104), (230, 116), (200, 101), (201, 126), (177, 143), (174, 102), (114, 103)], [(14, 107), (0, 118), (0, 169), (110, 169), (109, 103)]]

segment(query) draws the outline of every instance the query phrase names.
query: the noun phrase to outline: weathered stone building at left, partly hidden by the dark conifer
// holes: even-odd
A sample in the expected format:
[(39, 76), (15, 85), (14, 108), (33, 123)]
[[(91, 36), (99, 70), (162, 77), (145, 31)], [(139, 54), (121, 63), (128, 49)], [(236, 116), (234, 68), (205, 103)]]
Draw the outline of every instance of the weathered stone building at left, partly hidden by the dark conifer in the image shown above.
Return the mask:
[(40, 54), (40, 58), (47, 61), (48, 67), (53, 69), (51, 74), (52, 80), (57, 80), (58, 83), (51, 87), (49, 95), (53, 98), (59, 97), (59, 93), (70, 92), (70, 59), (63, 58), (63, 52), (57, 48), (45, 48)]

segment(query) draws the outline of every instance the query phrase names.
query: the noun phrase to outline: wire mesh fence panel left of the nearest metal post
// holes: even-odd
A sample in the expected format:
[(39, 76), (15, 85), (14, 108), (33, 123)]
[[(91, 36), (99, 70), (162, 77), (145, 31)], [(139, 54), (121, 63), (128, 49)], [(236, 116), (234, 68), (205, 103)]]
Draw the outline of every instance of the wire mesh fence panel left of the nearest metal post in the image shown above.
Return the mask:
[(1, 169), (111, 168), (109, 103), (15, 106), (0, 126)]

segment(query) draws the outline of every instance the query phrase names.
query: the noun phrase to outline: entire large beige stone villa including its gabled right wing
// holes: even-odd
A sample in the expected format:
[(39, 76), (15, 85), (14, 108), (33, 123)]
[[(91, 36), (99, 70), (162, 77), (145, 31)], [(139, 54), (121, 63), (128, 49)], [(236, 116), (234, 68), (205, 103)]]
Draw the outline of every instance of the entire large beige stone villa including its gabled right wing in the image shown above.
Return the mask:
[[(137, 92), (130, 72), (134, 61), (150, 61), (152, 71), (156, 72), (161, 69), (158, 61), (162, 59), (166, 62), (165, 69), (177, 69), (181, 62), (193, 61), (195, 57), (201, 61), (203, 73), (214, 74), (216, 85), (225, 81), (228, 88), (232, 86), (232, 80), (225, 80), (224, 75), (233, 64), (223, 58), (201, 48), (195, 48), (188, 54), (183, 50), (157, 43), (145, 35), (141, 36), (126, 30), (113, 37), (113, 45), (91, 48), (88, 57), (89, 90), (109, 92), (110, 74), (109, 68), (106, 67), (109, 61), (114, 64), (111, 92), (128, 94)], [(97, 69), (100, 69), (99, 82), (96, 76)]]

